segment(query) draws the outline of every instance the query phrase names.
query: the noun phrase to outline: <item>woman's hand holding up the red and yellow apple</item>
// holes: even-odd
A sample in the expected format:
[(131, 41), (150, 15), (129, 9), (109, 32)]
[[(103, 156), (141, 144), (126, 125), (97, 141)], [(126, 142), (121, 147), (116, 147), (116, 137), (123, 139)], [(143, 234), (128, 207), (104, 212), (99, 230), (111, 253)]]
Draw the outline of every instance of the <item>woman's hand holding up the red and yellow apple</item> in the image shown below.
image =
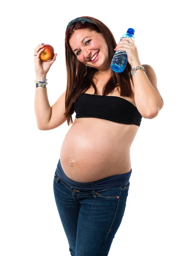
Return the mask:
[(57, 53), (55, 53), (55, 55), (53, 56), (53, 58), (50, 61), (42, 61), (40, 59), (40, 54), (43, 52), (44, 50), (44, 44), (39, 44), (35, 49), (34, 49), (34, 59), (35, 59), (35, 73), (36, 76), (43, 76), (48, 73), (51, 65), (53, 64), (53, 62), (56, 60), (56, 56)]

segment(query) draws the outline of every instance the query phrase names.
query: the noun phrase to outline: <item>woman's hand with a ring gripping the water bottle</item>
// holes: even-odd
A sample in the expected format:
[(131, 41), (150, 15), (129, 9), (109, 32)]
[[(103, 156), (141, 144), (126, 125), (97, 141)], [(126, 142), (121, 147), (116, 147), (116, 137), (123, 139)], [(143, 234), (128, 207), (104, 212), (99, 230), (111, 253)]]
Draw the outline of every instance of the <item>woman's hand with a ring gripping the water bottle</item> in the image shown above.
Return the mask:
[[(130, 42), (130, 44), (127, 44), (128, 42)], [(116, 51), (122, 50), (122, 51), (126, 52), (128, 62), (131, 66), (132, 66), (132, 64), (140, 63), (137, 47), (134, 44), (132, 38), (129, 38), (129, 37), (122, 38), (121, 41), (119, 41), (119, 43), (117, 44), (115, 50)]]

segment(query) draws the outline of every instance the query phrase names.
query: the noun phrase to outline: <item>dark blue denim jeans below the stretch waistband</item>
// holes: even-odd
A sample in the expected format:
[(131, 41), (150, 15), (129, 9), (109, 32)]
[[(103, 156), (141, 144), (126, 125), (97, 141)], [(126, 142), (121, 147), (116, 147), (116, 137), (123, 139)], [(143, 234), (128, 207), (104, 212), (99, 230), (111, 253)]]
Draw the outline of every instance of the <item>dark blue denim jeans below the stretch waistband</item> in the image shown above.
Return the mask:
[(129, 186), (130, 182), (128, 186), (80, 191), (55, 171), (55, 202), (71, 256), (108, 255), (124, 215)]

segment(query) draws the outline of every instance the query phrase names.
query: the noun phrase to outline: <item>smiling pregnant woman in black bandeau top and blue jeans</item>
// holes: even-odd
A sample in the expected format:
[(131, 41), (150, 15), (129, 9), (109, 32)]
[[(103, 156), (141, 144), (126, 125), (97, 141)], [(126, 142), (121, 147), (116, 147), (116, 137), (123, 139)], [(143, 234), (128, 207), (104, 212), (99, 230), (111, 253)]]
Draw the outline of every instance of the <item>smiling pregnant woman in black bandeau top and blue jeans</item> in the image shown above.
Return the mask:
[[(116, 45), (100, 20), (75, 18), (65, 35), (66, 90), (51, 107), (46, 74), (57, 54), (43, 62), (43, 50), (44, 44), (39, 44), (34, 51), (38, 128), (72, 124), (53, 183), (69, 251), (71, 256), (107, 256), (125, 211), (132, 173), (130, 146), (142, 117), (156, 117), (163, 106), (156, 74), (150, 65), (141, 64), (132, 38)], [(110, 68), (116, 50), (127, 53), (122, 73)], [(64, 255), (62, 242), (58, 246)]]

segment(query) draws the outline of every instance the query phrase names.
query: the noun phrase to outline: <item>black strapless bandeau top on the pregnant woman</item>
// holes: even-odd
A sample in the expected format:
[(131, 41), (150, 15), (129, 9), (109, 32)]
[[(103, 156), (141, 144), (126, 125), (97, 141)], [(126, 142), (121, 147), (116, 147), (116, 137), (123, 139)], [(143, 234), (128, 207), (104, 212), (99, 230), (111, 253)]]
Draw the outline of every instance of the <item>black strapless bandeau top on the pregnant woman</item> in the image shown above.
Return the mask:
[(142, 115), (127, 99), (82, 93), (75, 101), (76, 118), (96, 117), (140, 126)]

